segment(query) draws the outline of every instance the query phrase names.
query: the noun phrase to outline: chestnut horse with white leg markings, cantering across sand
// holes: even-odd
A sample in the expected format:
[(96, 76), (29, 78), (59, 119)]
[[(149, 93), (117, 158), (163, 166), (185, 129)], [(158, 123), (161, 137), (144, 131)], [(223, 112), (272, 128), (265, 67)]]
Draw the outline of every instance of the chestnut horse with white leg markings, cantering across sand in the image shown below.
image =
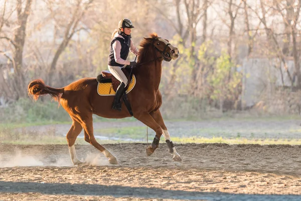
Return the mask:
[[(158, 37), (156, 33), (150, 34), (140, 43), (137, 57), (137, 66), (133, 68), (136, 77), (134, 88), (127, 94), (134, 118), (144, 123), (156, 132), (152, 145), (146, 148), (147, 156), (154, 153), (159, 146), (163, 134), (169, 152), (175, 161), (182, 161), (177, 153), (170, 134), (164, 124), (159, 108), (162, 105), (162, 95), (159, 84), (162, 74), (162, 61), (171, 61), (179, 57), (179, 51), (167, 40)], [(36, 79), (28, 85), (28, 93), (37, 100), (39, 95), (50, 94), (67, 111), (72, 119), (72, 126), (67, 133), (67, 142), (70, 157), (74, 165), (82, 164), (77, 158), (75, 140), (84, 129), (84, 139), (101, 151), (109, 163), (117, 164), (116, 157), (103, 146), (98, 144), (93, 134), (92, 114), (104, 118), (130, 117), (124, 103), (122, 110), (112, 110), (114, 96), (101, 96), (97, 93), (96, 78), (86, 77), (79, 79), (63, 88), (53, 88), (44, 84), (42, 79)]]

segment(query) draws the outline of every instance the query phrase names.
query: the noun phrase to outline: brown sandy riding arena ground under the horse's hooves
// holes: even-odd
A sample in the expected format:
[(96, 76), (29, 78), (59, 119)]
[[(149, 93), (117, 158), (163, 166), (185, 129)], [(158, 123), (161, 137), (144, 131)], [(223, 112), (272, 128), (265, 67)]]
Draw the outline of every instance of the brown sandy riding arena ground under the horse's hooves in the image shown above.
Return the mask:
[(0, 200), (301, 200), (301, 146), (176, 144), (182, 163), (165, 143), (104, 146), (118, 165), (92, 145), (81, 167), (67, 145), (0, 145)]

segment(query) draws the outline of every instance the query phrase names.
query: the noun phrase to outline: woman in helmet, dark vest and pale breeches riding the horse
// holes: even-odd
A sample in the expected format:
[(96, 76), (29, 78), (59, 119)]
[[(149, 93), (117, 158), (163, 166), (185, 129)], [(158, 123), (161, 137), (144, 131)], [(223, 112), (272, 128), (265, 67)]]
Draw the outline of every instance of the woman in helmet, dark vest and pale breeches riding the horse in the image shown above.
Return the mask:
[(127, 78), (122, 72), (121, 68), (126, 65), (135, 66), (135, 61), (126, 60), (129, 51), (133, 55), (138, 54), (138, 50), (135, 48), (131, 38), (131, 29), (134, 28), (129, 19), (120, 20), (118, 23), (118, 29), (112, 34), (112, 41), (110, 44), (110, 54), (108, 56), (108, 68), (109, 71), (120, 81), (120, 85), (117, 88), (115, 99), (113, 102), (113, 110), (121, 111), (121, 94), (127, 84)]

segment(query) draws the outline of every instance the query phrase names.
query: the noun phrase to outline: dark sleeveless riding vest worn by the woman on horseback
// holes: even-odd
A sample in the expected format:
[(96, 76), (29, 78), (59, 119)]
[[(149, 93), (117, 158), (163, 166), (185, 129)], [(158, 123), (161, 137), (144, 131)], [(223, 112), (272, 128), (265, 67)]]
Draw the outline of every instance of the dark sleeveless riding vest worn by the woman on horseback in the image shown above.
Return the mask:
[(116, 40), (119, 41), (120, 44), (121, 44), (120, 58), (123, 59), (123, 60), (126, 60), (126, 58), (128, 56), (128, 52), (129, 52), (129, 47), (130, 47), (130, 36), (128, 37), (128, 40), (125, 40), (125, 39), (120, 38), (120, 37), (115, 37), (111, 41), (110, 53), (109, 53), (109, 56), (108, 56), (108, 65), (109, 66), (120, 66), (120, 67), (122, 67), (124, 65), (117, 63), (115, 61), (115, 58), (114, 58), (114, 50), (113, 50), (112, 45)]

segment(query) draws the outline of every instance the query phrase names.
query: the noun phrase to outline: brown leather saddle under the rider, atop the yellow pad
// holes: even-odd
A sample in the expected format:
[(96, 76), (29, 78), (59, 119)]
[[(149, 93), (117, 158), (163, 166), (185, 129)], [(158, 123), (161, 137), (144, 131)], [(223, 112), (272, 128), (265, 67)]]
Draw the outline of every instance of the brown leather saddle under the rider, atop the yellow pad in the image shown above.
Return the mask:
[[(121, 68), (122, 72), (124, 73), (124, 75), (127, 77), (128, 79), (128, 84), (125, 86), (124, 88), (124, 91), (127, 90), (128, 86), (129, 86), (129, 83), (132, 79), (132, 70), (131, 68)], [(117, 90), (119, 84), (120, 84), (120, 81), (118, 79), (116, 79), (112, 73), (108, 70), (103, 70), (101, 71), (101, 74), (99, 74), (96, 78), (96, 80), (98, 81), (98, 83), (112, 83), (112, 88), (114, 91)]]

